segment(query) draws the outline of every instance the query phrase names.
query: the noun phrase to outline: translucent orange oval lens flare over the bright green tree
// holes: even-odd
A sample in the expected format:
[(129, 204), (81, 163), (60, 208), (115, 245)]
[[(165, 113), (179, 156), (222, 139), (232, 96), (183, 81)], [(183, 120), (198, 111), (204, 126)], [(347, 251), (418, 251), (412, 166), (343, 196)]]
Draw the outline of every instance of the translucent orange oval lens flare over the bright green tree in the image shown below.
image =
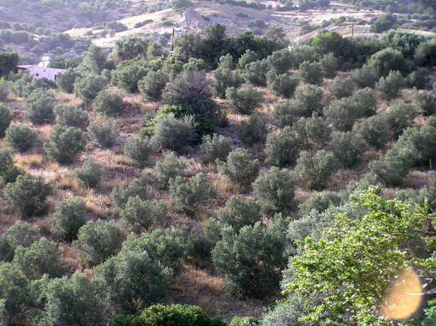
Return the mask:
[(386, 292), (378, 314), (390, 320), (402, 320), (413, 315), (420, 307), (422, 287), (420, 279), (411, 268), (402, 270)]

